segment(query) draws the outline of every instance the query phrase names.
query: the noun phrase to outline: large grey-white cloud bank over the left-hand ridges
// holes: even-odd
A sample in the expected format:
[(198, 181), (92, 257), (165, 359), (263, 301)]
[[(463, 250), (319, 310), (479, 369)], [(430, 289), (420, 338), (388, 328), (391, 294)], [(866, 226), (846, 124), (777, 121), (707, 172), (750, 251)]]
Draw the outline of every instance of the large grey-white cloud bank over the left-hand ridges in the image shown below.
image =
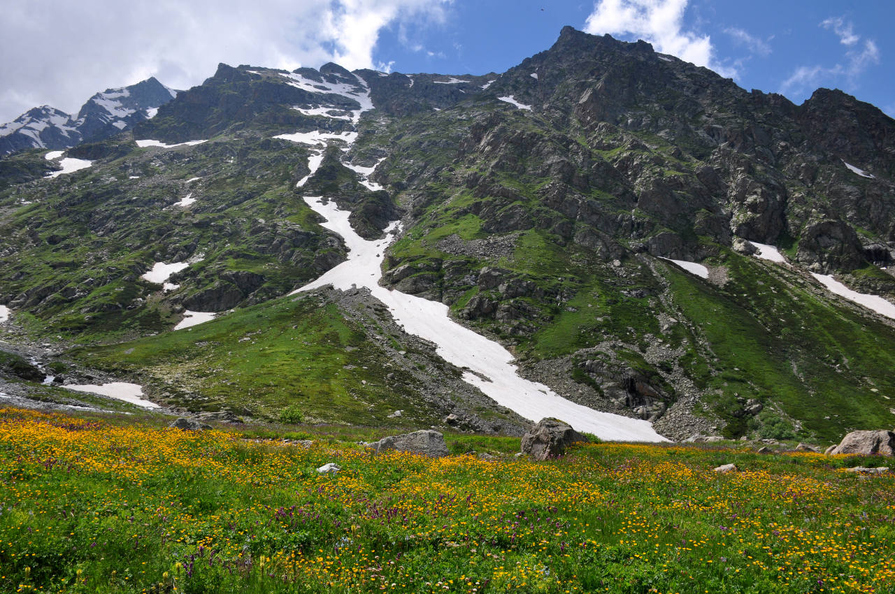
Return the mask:
[[(452, 0), (10, 0), (0, 16), (0, 122), (156, 76), (186, 89), (219, 62), (371, 68), (380, 32), (444, 21)], [(387, 56), (386, 56), (387, 57)]]

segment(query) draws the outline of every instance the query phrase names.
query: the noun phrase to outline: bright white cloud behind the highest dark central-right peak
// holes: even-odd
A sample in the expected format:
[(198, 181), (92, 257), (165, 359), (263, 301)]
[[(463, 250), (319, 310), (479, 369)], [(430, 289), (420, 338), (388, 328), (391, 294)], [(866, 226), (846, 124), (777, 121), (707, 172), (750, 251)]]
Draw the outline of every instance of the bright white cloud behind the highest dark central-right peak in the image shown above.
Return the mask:
[(736, 76), (735, 69), (715, 60), (712, 38), (683, 30), (687, 1), (598, 0), (584, 23), (584, 30), (642, 38), (663, 54), (677, 55), (722, 76)]

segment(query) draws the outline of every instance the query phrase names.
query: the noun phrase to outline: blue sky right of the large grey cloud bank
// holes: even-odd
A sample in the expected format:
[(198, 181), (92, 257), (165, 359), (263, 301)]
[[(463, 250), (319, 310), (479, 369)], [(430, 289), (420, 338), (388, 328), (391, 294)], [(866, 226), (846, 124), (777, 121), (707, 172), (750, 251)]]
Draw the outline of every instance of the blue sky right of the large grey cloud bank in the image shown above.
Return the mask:
[[(588, 17), (601, 4), (613, 3), (458, 0), (446, 21), (437, 26), (410, 35), (400, 26), (384, 30), (374, 58), (378, 64), (393, 62), (391, 66), (398, 72), (500, 72), (550, 47), (564, 25), (585, 30)], [(669, 4), (682, 5), (683, 10), (677, 23), (664, 19), (657, 27), (630, 22), (626, 27), (624, 19), (604, 19), (594, 23), (589, 32), (608, 32), (628, 41), (644, 38), (657, 50), (662, 41), (674, 47), (676, 38), (685, 44), (689, 39), (692, 47), (707, 37), (711, 59), (700, 65), (733, 78), (745, 89), (780, 92), (795, 103), (810, 97), (818, 87), (842, 89), (895, 116), (895, 38), (891, 35), (895, 2), (657, 0), (616, 4), (621, 11), (634, 6), (650, 13)], [(668, 47), (664, 51), (686, 57)]]

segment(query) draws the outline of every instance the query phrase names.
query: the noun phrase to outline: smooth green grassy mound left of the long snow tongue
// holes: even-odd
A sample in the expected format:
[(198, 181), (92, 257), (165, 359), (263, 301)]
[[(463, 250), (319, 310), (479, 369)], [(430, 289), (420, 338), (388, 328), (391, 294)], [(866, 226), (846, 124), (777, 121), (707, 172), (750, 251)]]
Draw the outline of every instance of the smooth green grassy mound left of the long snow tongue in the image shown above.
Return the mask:
[[(398, 344), (400, 346), (400, 344)], [(408, 348), (408, 347), (402, 347)], [(174, 405), (278, 418), (295, 406), (305, 418), (394, 424), (436, 413), (413, 398), (404, 372), (333, 302), (298, 295), (237, 310), (211, 322), (68, 356), (123, 376)], [(386, 378), (389, 372), (397, 380)]]

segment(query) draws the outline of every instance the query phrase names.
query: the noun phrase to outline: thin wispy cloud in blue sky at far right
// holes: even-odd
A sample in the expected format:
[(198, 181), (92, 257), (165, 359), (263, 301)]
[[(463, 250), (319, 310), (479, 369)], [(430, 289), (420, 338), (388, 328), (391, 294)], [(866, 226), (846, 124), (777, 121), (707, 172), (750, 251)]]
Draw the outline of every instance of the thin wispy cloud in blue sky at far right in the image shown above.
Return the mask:
[(880, 63), (880, 48), (873, 39), (864, 39), (855, 33), (850, 21), (831, 17), (820, 23), (823, 29), (832, 30), (840, 38), (840, 44), (848, 49), (837, 64), (798, 66), (780, 85), (782, 93), (802, 93), (822, 84), (841, 84), (855, 87), (860, 76), (874, 64)]

